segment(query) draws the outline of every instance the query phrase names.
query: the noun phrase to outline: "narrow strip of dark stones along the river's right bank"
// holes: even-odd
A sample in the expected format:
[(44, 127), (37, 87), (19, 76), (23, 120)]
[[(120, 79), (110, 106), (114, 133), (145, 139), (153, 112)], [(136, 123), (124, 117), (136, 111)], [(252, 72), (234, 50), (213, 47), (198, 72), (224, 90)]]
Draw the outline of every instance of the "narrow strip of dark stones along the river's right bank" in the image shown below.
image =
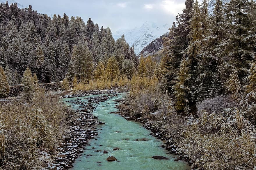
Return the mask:
[(175, 161), (185, 160), (189, 162), (190, 166), (193, 164), (193, 162), (190, 161), (188, 155), (184, 155), (178, 152), (179, 146), (175, 145), (173, 138), (168, 138), (163, 130), (154, 126), (154, 114), (157, 114), (157, 113), (150, 113), (150, 116), (149, 116), (151, 117), (150, 119), (149, 118), (143, 119), (138, 116), (131, 116), (130, 114), (131, 107), (125, 102), (125, 99), (120, 99), (116, 101), (120, 102), (119, 105), (116, 105), (116, 108), (118, 108), (119, 110), (113, 113), (119, 114), (129, 121), (134, 120), (136, 122), (143, 123), (143, 127), (152, 131), (150, 133), (151, 135), (163, 141), (164, 144), (162, 145), (162, 147), (166, 148), (169, 151), (168, 153), (177, 155), (178, 158), (175, 159)]

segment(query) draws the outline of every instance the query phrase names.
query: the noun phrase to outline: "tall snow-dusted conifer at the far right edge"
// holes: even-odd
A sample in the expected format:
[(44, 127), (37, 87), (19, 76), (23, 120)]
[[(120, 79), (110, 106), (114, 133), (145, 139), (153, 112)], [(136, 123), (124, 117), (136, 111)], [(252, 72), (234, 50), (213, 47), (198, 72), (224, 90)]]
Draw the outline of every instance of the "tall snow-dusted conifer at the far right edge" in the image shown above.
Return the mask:
[(256, 32), (256, 3), (249, 0), (231, 0), (225, 4), (226, 19), (223, 24), (228, 28), (228, 36), (218, 45), (223, 50), (220, 55), (229, 74), (227, 87), (233, 97), (238, 98), (243, 78), (253, 60)]

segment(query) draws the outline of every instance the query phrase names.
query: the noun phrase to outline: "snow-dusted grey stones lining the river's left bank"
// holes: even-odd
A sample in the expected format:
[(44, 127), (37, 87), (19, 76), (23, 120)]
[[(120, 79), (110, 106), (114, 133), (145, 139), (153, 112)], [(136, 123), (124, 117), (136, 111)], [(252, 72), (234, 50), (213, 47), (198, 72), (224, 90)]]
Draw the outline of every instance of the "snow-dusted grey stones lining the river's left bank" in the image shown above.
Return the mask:
[(93, 111), (96, 108), (96, 105), (99, 102), (103, 102), (113, 96), (117, 96), (117, 93), (120, 92), (117, 90), (104, 90), (81, 92), (79, 94), (63, 96), (62, 98), (73, 98), (96, 94), (108, 94), (86, 98), (87, 102), (82, 102), (81, 99), (66, 101), (80, 105), (79, 107), (82, 109), (76, 110), (78, 118), (69, 127), (69, 129), (67, 129), (69, 132), (63, 137), (63, 142), (59, 145), (57, 150), (58, 154), (54, 160), (50, 163), (45, 163), (42, 167), (50, 170), (64, 170), (73, 167), (72, 164), (75, 162), (76, 158), (83, 153), (83, 150), (86, 149), (85, 146), (90, 146), (90, 140), (96, 138), (98, 135), (97, 128), (100, 128), (100, 125), (104, 124), (104, 122), (97, 121), (96, 116), (93, 116)]

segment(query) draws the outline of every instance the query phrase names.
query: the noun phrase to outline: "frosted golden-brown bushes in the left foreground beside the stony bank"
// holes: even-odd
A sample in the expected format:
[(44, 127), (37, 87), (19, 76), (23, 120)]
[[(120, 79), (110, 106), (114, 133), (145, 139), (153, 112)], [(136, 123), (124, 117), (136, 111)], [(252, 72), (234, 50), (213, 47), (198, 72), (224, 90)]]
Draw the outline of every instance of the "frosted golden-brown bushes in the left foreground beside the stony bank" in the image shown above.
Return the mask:
[(76, 114), (58, 96), (38, 90), (30, 104), (11, 98), (0, 108), (0, 169), (37, 169), (41, 151), (54, 154)]

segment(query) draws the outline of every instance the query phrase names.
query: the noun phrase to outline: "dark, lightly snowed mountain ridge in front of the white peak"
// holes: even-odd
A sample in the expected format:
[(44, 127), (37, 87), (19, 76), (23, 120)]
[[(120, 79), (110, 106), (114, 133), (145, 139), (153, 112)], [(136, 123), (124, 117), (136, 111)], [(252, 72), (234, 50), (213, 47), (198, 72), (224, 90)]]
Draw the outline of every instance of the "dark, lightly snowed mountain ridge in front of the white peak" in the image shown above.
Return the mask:
[(161, 51), (163, 49), (163, 38), (167, 37), (167, 36), (168, 36), (168, 33), (165, 33), (162, 36), (160, 36), (159, 38), (157, 38), (154, 41), (152, 41), (151, 43), (149, 43), (149, 45), (147, 45), (146, 47), (143, 48), (143, 50), (141, 51), (141, 53), (139, 55), (140, 56), (143, 55), (143, 57), (147, 57), (149, 55), (153, 56), (156, 53), (158, 53), (159, 51)]

